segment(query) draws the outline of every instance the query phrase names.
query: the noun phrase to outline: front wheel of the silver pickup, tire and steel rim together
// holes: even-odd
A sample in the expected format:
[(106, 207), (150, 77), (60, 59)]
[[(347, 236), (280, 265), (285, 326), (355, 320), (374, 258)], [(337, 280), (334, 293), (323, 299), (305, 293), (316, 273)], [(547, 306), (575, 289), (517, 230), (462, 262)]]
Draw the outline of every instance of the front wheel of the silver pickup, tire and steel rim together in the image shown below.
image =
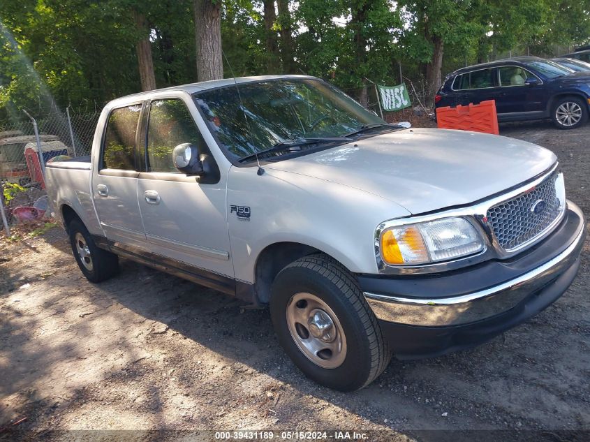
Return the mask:
[(327, 256), (306, 256), (279, 272), (272, 283), (270, 314), (291, 360), (328, 388), (363, 388), (391, 359), (355, 279)]

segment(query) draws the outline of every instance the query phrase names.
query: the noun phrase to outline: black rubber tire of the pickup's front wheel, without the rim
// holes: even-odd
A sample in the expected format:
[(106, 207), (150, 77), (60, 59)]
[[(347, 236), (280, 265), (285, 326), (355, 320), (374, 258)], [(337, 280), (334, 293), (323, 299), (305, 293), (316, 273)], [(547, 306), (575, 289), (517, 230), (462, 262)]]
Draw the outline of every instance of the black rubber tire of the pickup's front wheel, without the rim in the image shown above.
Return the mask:
[[(353, 391), (374, 381), (387, 367), (391, 353), (377, 319), (351, 273), (336, 260), (323, 254), (300, 258), (279, 272), (271, 290), (270, 314), (279, 344), (308, 378), (334, 390)], [(288, 308), (299, 304), (290, 301), (302, 294), (319, 298), (337, 317), (334, 323), (344, 332), (346, 348), (345, 356), (340, 355), (344, 361), (337, 367), (313, 362), (300, 350), (302, 341), (297, 344), (290, 332)], [(310, 333), (308, 330), (307, 339), (314, 339)]]

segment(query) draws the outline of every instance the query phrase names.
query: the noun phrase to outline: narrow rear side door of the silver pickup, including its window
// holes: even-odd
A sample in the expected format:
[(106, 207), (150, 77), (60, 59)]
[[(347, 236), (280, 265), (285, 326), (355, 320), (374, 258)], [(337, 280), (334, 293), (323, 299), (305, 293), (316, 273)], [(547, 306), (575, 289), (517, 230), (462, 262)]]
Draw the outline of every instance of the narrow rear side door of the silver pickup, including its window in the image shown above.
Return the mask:
[(107, 238), (133, 246), (145, 243), (135, 149), (141, 110), (142, 104), (135, 103), (110, 111), (92, 178), (94, 205)]

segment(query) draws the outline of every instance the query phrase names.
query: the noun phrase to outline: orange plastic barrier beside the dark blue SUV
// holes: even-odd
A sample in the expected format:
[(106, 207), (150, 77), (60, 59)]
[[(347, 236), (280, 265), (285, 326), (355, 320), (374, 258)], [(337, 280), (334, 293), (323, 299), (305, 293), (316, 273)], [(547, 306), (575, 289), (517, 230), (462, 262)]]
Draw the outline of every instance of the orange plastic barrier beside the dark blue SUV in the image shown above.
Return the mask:
[(500, 134), (495, 100), (482, 101), (479, 104), (469, 103), (469, 106), (458, 105), (457, 108), (438, 108), (436, 124), (441, 129)]

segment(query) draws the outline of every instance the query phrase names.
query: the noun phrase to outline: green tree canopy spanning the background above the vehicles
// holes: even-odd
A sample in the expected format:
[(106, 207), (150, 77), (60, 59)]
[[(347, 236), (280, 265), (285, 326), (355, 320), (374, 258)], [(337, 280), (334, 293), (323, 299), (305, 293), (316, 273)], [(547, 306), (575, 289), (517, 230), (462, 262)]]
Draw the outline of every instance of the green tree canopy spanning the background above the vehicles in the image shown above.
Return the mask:
[(590, 40), (587, 0), (3, 1), (0, 120), (197, 81), (211, 10), (226, 77), (307, 73), (361, 100), (365, 79), (397, 83), (400, 66), (432, 94), (441, 72)]

